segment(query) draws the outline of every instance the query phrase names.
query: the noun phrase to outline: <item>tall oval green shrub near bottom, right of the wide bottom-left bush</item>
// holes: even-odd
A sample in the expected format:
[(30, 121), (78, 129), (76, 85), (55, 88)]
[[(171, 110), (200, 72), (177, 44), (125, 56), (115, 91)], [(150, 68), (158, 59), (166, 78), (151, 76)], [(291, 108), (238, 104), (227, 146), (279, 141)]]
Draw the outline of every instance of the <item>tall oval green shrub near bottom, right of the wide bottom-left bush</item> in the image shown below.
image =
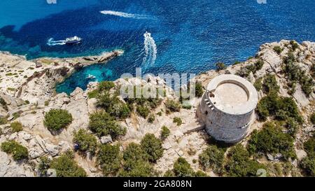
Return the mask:
[(100, 146), (97, 153), (97, 162), (102, 168), (104, 176), (115, 175), (120, 169), (120, 160), (119, 146), (109, 144)]

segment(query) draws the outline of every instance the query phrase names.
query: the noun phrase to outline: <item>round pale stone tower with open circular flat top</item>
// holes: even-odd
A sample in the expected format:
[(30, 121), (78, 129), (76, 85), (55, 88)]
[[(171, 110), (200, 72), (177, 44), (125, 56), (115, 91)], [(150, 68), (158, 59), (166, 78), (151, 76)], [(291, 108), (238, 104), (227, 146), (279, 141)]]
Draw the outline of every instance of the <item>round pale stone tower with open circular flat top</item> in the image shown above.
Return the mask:
[(209, 83), (197, 114), (214, 139), (237, 143), (246, 136), (257, 103), (251, 83), (232, 74), (221, 75)]

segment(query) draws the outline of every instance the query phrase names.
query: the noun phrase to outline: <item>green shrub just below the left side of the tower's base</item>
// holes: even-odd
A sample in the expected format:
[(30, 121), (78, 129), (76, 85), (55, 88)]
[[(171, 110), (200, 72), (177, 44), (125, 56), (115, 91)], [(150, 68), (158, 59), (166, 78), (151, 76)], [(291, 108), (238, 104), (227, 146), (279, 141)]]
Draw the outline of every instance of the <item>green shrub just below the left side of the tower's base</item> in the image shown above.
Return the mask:
[(199, 162), (204, 169), (213, 169), (216, 174), (223, 173), (223, 161), (225, 151), (217, 146), (208, 146), (199, 155)]

